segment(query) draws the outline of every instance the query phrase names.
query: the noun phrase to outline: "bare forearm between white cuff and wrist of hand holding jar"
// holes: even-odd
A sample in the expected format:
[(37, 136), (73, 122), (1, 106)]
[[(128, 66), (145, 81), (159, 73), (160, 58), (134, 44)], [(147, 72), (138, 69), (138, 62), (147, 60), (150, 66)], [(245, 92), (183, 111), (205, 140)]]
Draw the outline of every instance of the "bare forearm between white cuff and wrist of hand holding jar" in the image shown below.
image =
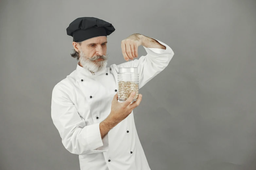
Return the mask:
[(105, 135), (109, 133), (109, 131), (115, 127), (119, 121), (113, 119), (112, 117), (108, 116), (105, 120), (100, 122), (99, 128), (100, 128), (100, 135), (101, 139), (104, 138)]

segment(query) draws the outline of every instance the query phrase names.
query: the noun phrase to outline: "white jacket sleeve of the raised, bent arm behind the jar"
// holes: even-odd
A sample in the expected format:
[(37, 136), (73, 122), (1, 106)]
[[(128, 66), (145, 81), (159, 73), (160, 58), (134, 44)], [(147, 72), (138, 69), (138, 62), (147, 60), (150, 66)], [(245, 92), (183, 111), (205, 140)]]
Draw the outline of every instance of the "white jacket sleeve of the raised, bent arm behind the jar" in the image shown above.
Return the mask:
[(117, 72), (118, 67), (138, 67), (139, 89), (159, 74), (169, 64), (174, 55), (173, 50), (168, 45), (159, 40), (157, 41), (164, 45), (166, 49), (146, 48), (143, 46), (147, 52), (146, 56), (141, 56), (139, 59), (133, 59), (132, 61), (119, 65), (114, 65)]

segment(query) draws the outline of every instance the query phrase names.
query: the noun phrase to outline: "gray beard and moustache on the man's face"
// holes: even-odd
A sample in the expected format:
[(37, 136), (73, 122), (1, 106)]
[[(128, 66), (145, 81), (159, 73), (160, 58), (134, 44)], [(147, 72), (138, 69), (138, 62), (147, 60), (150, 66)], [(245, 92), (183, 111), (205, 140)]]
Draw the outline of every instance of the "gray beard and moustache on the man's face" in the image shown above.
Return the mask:
[[(97, 61), (97, 59), (100, 59), (100, 58), (102, 58), (103, 60)], [(83, 51), (80, 51), (80, 57), (79, 57), (80, 64), (84, 68), (88, 69), (93, 73), (100, 72), (103, 69), (105, 69), (108, 64), (108, 58), (109, 58), (109, 54), (107, 54), (106, 56), (97, 55), (92, 58), (87, 58)]]

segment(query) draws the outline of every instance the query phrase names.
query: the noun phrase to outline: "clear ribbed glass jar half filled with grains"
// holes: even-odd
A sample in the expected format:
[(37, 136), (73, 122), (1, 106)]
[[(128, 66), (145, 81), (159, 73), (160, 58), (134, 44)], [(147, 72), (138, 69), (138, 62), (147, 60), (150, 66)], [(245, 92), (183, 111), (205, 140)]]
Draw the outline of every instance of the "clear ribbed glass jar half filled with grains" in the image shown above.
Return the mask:
[(118, 67), (118, 100), (126, 101), (131, 92), (135, 92), (132, 101), (136, 101), (139, 95), (139, 73), (138, 67)]

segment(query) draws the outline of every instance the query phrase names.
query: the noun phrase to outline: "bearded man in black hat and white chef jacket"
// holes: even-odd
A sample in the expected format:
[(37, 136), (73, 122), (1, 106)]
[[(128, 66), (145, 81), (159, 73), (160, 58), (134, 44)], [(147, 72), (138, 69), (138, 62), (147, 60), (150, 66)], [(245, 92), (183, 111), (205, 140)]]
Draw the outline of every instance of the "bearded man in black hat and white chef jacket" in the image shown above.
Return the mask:
[[(107, 35), (112, 24), (94, 17), (77, 18), (67, 28), (73, 37), (77, 68), (55, 85), (51, 116), (62, 144), (79, 155), (81, 170), (150, 170), (133, 117), (142, 96), (132, 103), (117, 100), (118, 67), (138, 67), (139, 88), (160, 73), (170, 62), (173, 50), (159, 40), (140, 34), (121, 42), (128, 62), (106, 67)], [(138, 46), (147, 55), (138, 57)]]

